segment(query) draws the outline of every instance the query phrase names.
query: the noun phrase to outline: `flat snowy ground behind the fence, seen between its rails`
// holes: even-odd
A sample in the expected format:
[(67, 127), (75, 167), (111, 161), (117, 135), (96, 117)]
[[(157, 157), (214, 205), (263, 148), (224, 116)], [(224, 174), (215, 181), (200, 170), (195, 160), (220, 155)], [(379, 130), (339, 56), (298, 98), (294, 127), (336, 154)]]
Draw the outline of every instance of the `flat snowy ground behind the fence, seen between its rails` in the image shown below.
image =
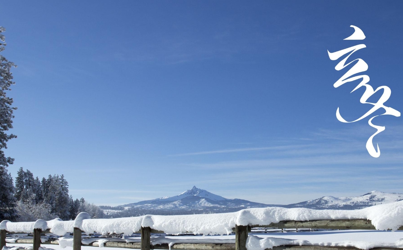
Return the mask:
[[(379, 231), (379, 230), (332, 230), (332, 231), (303, 231), (303, 232), (272, 232), (272, 233), (251, 233), (249, 235), (258, 236), (260, 238), (283, 238), (292, 240), (306, 240), (314, 245), (320, 246), (355, 246), (361, 249), (369, 249), (380, 246), (400, 247), (403, 248), (403, 231)], [(139, 237), (134, 237), (139, 239)], [(180, 243), (185, 239), (234, 239), (235, 235), (229, 236), (166, 236), (172, 239), (172, 242)], [(338, 242), (338, 243), (337, 243)], [(336, 244), (335, 244), (336, 243)], [(395, 244), (395, 246), (393, 246)], [(30, 244), (12, 244), (7, 246), (27, 247)], [(62, 250), (58, 245), (42, 245), (45, 248)], [(82, 246), (83, 250), (94, 250), (93, 246)], [(72, 249), (66, 247), (63, 250)], [(116, 248), (103, 248), (104, 250), (116, 250)]]

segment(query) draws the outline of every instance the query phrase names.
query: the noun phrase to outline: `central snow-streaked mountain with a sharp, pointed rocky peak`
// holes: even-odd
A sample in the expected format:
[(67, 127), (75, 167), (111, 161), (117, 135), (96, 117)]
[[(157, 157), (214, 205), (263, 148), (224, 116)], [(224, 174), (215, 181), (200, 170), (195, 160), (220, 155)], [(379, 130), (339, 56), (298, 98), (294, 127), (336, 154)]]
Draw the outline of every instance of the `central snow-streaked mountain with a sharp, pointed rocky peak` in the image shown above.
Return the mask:
[(172, 196), (162, 197), (154, 200), (143, 200), (136, 203), (123, 205), (126, 209), (228, 209), (228, 208), (250, 208), (267, 207), (263, 203), (251, 202), (241, 199), (227, 199), (222, 196), (212, 194), (204, 189), (196, 188), (186, 190), (185, 192)]

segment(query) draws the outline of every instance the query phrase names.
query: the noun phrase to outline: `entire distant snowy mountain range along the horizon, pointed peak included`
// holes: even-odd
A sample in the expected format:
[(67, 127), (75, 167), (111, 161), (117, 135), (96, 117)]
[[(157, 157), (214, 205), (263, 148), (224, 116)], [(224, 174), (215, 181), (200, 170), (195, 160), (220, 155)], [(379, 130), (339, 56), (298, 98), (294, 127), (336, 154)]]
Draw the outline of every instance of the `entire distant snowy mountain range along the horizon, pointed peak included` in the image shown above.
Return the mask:
[(128, 217), (145, 214), (194, 214), (194, 213), (225, 213), (254, 207), (305, 207), (310, 209), (362, 209), (382, 203), (403, 200), (403, 194), (372, 191), (361, 196), (333, 197), (324, 196), (316, 200), (307, 200), (290, 205), (274, 205), (251, 202), (241, 199), (227, 199), (196, 188), (172, 197), (154, 200), (143, 200), (117, 207), (100, 206), (110, 217)]

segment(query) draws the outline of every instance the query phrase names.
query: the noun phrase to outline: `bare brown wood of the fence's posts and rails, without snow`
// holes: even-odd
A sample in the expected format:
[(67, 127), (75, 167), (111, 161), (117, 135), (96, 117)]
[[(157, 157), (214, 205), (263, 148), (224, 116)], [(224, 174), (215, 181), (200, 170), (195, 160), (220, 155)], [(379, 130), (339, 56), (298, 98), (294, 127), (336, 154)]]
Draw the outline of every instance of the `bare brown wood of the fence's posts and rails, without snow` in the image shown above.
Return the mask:
[[(188, 249), (188, 250), (246, 250), (246, 239), (251, 227), (274, 227), (284, 229), (375, 229), (371, 221), (364, 219), (342, 219), (342, 220), (317, 220), (317, 221), (280, 221), (278, 223), (271, 223), (270, 225), (236, 225), (235, 226), (235, 244), (174, 244), (170, 248), (168, 244), (152, 245), (150, 243), (150, 236), (154, 230), (150, 227), (141, 227), (141, 242), (140, 243), (126, 243), (126, 242), (106, 242), (106, 247), (117, 248), (133, 248), (141, 250), (150, 249)], [(401, 226), (398, 230), (403, 230)], [(234, 229), (233, 229), (234, 231)], [(46, 231), (48, 232), (48, 230)], [(41, 229), (33, 230), (33, 240), (22, 240), (17, 243), (33, 243), (33, 250), (39, 250), (41, 245)], [(158, 231), (161, 233), (162, 231)], [(6, 246), (6, 230), (0, 232), (0, 250)], [(9, 232), (17, 233), (17, 232)], [(81, 246), (98, 246), (98, 242), (90, 245), (81, 243), (82, 231), (75, 227), (73, 229), (73, 250), (81, 250)], [(57, 241), (48, 241), (43, 244), (58, 244)], [(354, 247), (330, 247), (330, 246), (278, 246), (273, 250), (355, 250)], [(402, 248), (377, 248), (377, 250), (402, 250)]]

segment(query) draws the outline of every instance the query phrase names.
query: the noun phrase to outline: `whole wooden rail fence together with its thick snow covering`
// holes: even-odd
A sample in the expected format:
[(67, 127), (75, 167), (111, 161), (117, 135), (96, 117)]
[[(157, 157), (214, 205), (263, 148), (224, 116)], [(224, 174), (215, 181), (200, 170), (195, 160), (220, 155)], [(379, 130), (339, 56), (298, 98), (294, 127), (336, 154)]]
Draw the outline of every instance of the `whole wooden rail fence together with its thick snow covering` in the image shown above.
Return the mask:
[[(249, 250), (253, 248), (254, 236), (248, 237), (248, 229), (251, 226), (280, 227), (280, 228), (323, 228), (323, 229), (392, 229), (402, 230), (403, 227), (403, 201), (377, 205), (360, 210), (313, 210), (313, 209), (285, 209), (269, 207), (262, 209), (244, 209), (235, 213), (204, 214), (204, 215), (145, 215), (140, 217), (116, 218), (116, 219), (89, 219), (88, 214), (80, 213), (75, 221), (38, 220), (36, 222), (9, 222), (0, 223), (1, 246), (5, 246), (6, 231), (32, 232), (34, 233), (33, 250), (38, 250), (40, 245), (40, 233), (50, 229), (57, 235), (73, 232), (73, 250), (80, 250), (82, 243), (82, 231), (87, 233), (116, 233), (131, 235), (141, 231), (141, 242), (133, 244), (106, 244), (106, 246), (141, 248), (141, 250), (166, 249), (158, 241), (150, 242), (152, 230), (162, 231), (168, 234), (183, 232), (202, 233), (204, 235), (230, 234), (235, 228), (235, 244), (204, 244), (200, 246), (187, 246), (188, 249), (235, 249)], [(36, 243), (35, 243), (36, 242)], [(108, 242), (109, 243), (109, 242)], [(122, 243), (122, 242), (120, 242)], [(101, 243), (99, 243), (101, 244)], [(159, 244), (159, 245), (158, 245)], [(295, 242), (294, 244), (301, 244)], [(194, 244), (197, 245), (197, 244)], [(220, 246), (219, 246), (220, 245)], [(225, 245), (225, 246), (223, 246)], [(293, 245), (286, 242), (283, 245)], [(281, 245), (278, 245), (281, 246)], [(297, 247), (297, 246), (295, 246)], [(295, 248), (293, 247), (293, 248)], [(315, 246), (304, 246), (300, 250), (314, 249)], [(173, 247), (175, 248), (175, 247)], [(384, 248), (386, 249), (386, 248)], [(392, 248), (388, 248), (392, 249)], [(0, 249), (1, 250), (1, 249)]]

